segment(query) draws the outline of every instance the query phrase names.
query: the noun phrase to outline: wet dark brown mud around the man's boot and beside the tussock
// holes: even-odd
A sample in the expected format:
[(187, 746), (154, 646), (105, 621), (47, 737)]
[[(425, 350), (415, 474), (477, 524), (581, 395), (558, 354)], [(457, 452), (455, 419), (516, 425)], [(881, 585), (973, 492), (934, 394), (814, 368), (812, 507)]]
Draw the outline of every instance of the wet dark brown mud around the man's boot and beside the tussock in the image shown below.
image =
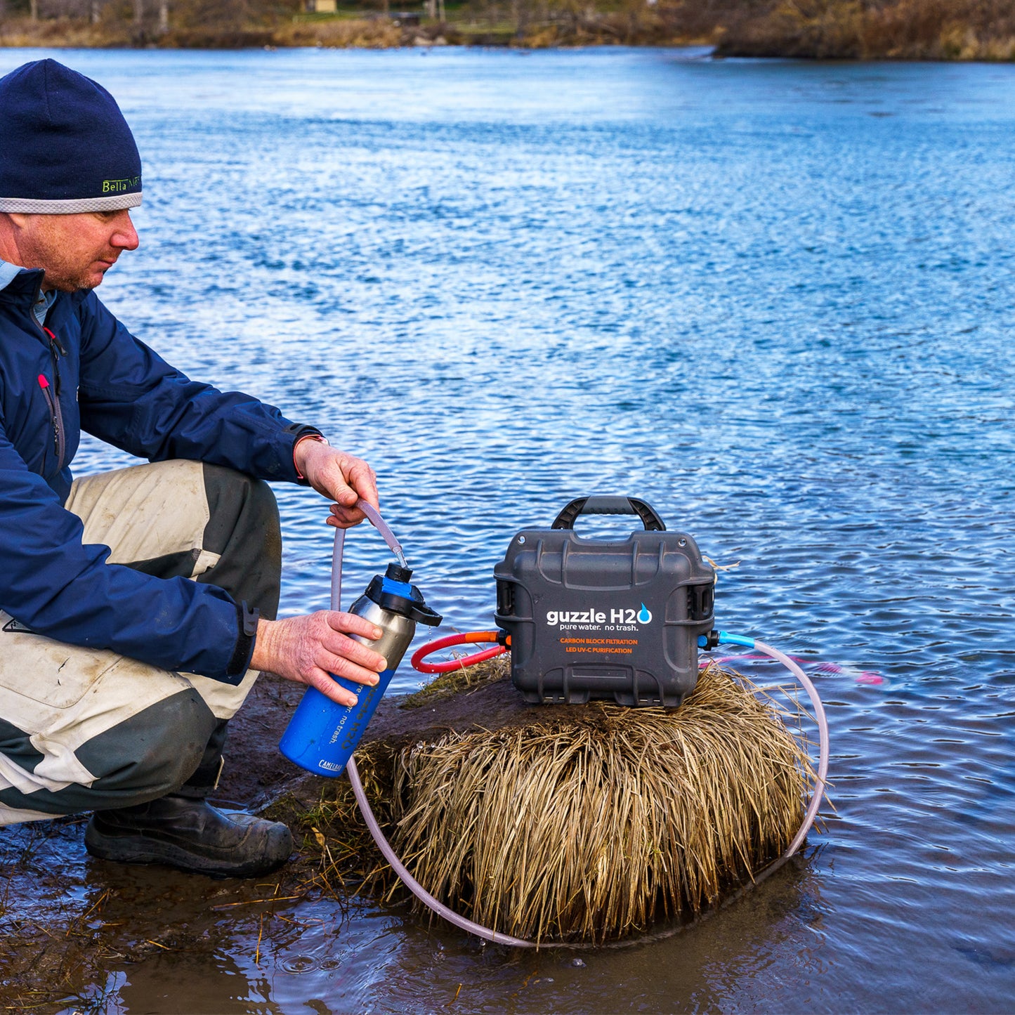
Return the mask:
[[(113, 1010), (108, 1001), (114, 996), (115, 1010), (135, 1010), (131, 987), (118, 970), (142, 963), (156, 978), (183, 975), (173, 1010), (193, 1011), (185, 1000), (188, 983), (219, 982), (241, 952), (256, 964), (259, 950), (291, 945), (309, 927), (319, 936), (324, 920), (333, 924), (329, 935), (341, 933), (342, 923), (334, 923), (336, 902), (345, 913), (362, 904), (354, 882), (378, 857), (367, 848), (349, 858), (351, 888), (320, 877), (313, 813), (332, 781), (301, 772), (277, 747), (300, 695), (299, 686), (270, 674), (258, 681), (230, 723), (215, 795), (220, 806), (269, 810), (289, 822), (295, 851), (274, 875), (212, 879), (96, 860), (84, 849), (86, 814), (0, 828), (0, 1011), (105, 1012)], [(407, 698), (382, 701), (364, 743), (408, 740), (428, 729), (478, 728), (477, 716), (485, 728), (506, 725), (527, 710), (503, 682), (412, 699), (415, 707), (403, 707)], [(359, 828), (353, 836), (357, 847), (362, 833)], [(328, 901), (325, 916), (314, 904), (322, 898)], [(340, 954), (336, 937), (332, 958), (302, 961), (338, 962)], [(204, 966), (207, 975), (200, 972)], [(201, 1010), (215, 1011), (214, 1000), (202, 997)]]

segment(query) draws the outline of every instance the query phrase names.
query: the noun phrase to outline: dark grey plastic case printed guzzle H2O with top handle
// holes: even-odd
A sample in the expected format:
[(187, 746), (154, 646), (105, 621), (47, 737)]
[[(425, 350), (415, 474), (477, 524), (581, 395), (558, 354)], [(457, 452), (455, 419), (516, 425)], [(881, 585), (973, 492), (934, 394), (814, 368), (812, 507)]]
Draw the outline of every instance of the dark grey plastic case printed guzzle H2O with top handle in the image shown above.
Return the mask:
[[(579, 515), (636, 515), (645, 531), (585, 539)], [(635, 497), (581, 497), (526, 529), (493, 569), (512, 680), (531, 702), (675, 707), (694, 687), (713, 629), (716, 572), (686, 533)]]

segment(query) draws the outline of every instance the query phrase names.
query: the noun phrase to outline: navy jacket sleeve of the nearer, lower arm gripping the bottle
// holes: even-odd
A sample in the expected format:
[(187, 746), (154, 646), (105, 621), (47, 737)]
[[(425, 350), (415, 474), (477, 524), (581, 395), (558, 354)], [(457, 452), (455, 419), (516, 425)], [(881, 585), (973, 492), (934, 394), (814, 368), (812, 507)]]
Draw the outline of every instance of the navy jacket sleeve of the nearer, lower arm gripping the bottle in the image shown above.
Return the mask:
[[(110, 649), (167, 670), (242, 679), (253, 642), (223, 590), (109, 564), (109, 548), (31, 472), (0, 419), (2, 607), (39, 634)], [(240, 651), (248, 646), (244, 653)], [(26, 675), (30, 679), (30, 675)]]

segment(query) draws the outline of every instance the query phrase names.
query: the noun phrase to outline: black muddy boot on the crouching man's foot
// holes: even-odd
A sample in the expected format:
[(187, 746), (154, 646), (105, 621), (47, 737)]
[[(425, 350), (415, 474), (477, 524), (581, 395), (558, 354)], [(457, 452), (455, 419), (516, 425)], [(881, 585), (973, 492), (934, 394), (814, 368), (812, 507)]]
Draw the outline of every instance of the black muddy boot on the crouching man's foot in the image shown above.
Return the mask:
[(122, 864), (249, 878), (281, 867), (292, 852), (292, 835), (277, 821), (171, 793), (147, 804), (95, 811), (84, 844), (93, 857)]

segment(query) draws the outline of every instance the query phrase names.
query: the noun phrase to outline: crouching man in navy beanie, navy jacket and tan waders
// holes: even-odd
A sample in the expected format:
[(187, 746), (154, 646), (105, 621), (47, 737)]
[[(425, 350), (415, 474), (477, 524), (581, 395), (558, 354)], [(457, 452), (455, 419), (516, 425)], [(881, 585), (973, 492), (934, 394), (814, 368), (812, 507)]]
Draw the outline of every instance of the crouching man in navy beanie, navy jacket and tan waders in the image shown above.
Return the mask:
[[(239, 392), (191, 381), (95, 296), (137, 249), (141, 161), (113, 96), (54, 60), (0, 78), (0, 824), (94, 811), (88, 852), (213, 875), (285, 862), (282, 824), (206, 798), (262, 670), (355, 698), (381, 635), (333, 611), (276, 620), (264, 480), (328, 522), (377, 505), (365, 462)], [(147, 464), (74, 479), (81, 430)]]

